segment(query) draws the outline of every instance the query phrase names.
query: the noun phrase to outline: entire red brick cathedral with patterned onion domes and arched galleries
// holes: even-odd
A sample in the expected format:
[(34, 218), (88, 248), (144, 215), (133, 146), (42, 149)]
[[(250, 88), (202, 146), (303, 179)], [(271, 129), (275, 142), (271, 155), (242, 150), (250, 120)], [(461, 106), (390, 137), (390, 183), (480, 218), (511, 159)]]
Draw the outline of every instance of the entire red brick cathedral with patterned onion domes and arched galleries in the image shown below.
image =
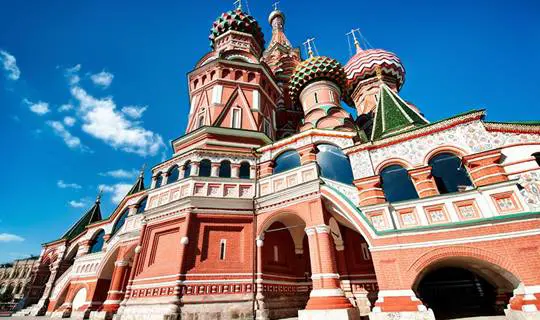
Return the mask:
[(395, 54), (303, 60), (268, 20), (217, 18), (171, 158), (43, 245), (19, 314), (540, 319), (540, 122), (430, 122)]

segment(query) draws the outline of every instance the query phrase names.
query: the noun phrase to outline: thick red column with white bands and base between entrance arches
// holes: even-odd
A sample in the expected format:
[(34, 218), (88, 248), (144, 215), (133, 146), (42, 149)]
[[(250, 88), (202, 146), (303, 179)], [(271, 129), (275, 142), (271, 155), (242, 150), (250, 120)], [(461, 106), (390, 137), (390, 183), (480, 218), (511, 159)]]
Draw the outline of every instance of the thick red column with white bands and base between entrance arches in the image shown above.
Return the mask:
[(340, 287), (330, 227), (324, 224), (307, 227), (306, 234), (313, 289), (306, 309), (298, 311), (298, 319), (358, 319), (358, 310)]

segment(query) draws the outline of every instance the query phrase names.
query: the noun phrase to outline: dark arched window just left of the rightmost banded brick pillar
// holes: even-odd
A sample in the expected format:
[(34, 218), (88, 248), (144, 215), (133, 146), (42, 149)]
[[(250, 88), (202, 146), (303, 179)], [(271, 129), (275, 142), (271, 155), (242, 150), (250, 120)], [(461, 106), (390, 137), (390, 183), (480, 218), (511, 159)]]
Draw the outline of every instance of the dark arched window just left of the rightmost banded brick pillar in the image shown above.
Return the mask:
[(451, 153), (439, 153), (429, 160), (431, 175), (440, 194), (457, 192), (459, 186), (472, 186), (461, 159)]

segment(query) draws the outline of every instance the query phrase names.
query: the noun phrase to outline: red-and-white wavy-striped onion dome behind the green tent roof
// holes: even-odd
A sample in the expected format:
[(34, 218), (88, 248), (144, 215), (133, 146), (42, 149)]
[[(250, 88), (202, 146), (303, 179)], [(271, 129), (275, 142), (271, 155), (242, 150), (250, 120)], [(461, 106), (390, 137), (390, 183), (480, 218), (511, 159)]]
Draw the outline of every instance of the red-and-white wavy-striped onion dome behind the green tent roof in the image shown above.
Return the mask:
[(359, 47), (343, 67), (349, 89), (353, 91), (360, 81), (375, 77), (377, 67), (382, 71), (383, 77), (396, 79), (397, 89), (401, 89), (405, 82), (405, 68), (398, 56), (382, 49), (362, 50)]

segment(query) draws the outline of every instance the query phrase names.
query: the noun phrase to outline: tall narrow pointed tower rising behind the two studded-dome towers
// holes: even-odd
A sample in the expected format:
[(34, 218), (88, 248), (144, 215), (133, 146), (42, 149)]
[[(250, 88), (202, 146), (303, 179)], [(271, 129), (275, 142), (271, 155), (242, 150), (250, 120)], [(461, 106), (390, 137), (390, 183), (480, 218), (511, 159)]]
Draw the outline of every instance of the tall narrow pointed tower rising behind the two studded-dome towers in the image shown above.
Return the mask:
[(283, 91), (283, 95), (276, 101), (276, 112), (277, 137), (284, 138), (297, 132), (304, 116), (302, 107), (292, 104), (289, 95), (289, 79), (302, 59), (300, 49), (293, 48), (285, 35), (285, 15), (277, 9), (277, 3), (268, 17), (268, 22), (272, 26), (272, 39), (261, 60), (270, 67), (278, 86)]

